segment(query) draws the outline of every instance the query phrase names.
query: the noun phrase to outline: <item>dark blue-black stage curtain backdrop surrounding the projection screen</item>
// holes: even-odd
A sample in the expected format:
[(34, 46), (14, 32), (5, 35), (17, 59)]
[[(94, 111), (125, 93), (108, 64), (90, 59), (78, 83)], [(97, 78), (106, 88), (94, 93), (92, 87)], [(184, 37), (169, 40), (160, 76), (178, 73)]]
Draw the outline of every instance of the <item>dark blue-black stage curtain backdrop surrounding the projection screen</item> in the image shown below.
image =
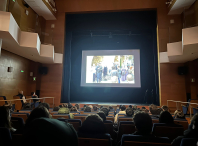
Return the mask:
[[(61, 102), (159, 104), (156, 11), (66, 15)], [(81, 87), (82, 50), (140, 49), (141, 88)]]

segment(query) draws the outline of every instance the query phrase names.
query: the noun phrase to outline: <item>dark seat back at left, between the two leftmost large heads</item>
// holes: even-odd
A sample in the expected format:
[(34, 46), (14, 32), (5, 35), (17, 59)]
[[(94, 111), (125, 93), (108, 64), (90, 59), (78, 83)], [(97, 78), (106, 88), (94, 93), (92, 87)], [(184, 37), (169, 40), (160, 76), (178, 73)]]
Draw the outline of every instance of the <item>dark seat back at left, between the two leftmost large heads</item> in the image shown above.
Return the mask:
[(20, 131), (23, 131), (24, 129), (24, 120), (23, 118), (21, 117), (11, 117), (11, 123), (12, 123), (12, 127), (17, 129), (17, 130), (20, 130)]

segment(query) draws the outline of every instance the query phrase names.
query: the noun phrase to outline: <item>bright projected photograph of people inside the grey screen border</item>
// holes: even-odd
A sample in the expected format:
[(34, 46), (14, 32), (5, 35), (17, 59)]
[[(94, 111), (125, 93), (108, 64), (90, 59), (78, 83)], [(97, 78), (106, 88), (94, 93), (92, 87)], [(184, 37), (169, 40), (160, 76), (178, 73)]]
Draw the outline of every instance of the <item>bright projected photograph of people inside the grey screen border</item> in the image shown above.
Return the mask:
[(133, 55), (86, 57), (86, 83), (135, 83)]

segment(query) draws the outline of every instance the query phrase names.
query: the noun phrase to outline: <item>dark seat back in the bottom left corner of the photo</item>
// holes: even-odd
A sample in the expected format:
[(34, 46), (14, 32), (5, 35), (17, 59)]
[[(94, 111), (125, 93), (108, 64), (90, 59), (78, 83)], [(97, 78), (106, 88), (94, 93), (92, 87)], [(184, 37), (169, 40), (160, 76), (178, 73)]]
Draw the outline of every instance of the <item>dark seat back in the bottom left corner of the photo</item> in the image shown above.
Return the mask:
[(8, 128), (0, 127), (0, 145), (11, 145), (12, 136)]

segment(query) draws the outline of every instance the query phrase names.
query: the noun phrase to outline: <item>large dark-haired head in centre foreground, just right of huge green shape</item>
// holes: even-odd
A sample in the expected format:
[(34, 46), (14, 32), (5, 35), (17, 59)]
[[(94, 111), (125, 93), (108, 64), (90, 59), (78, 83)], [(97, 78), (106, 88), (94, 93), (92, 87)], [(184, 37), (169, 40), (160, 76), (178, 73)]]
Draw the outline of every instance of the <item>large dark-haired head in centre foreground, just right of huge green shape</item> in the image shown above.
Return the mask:
[(92, 114), (87, 116), (78, 132), (86, 134), (105, 134), (106, 128), (102, 118), (97, 114)]

